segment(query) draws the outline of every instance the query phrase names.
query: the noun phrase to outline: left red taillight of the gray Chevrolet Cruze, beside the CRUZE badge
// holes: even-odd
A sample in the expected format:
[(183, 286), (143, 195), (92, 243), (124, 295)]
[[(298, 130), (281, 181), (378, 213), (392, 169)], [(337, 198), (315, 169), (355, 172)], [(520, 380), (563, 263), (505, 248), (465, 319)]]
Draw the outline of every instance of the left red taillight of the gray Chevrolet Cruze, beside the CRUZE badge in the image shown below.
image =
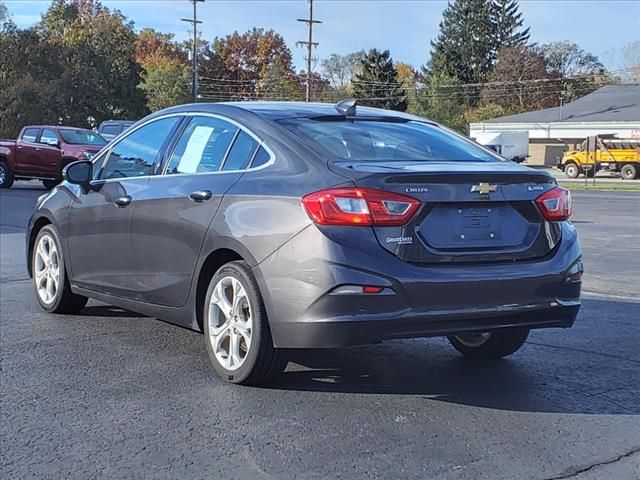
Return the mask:
[(318, 225), (406, 225), (420, 201), (372, 188), (333, 188), (302, 198), (307, 214)]

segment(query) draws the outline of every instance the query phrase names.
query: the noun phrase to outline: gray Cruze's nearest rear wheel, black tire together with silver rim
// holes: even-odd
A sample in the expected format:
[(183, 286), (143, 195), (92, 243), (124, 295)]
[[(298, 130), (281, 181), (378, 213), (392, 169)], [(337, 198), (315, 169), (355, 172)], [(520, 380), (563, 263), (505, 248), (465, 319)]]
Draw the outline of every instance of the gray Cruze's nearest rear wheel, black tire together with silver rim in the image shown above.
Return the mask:
[(227, 263), (213, 276), (203, 325), (211, 365), (224, 380), (260, 385), (286, 367), (284, 351), (273, 347), (262, 295), (245, 262)]

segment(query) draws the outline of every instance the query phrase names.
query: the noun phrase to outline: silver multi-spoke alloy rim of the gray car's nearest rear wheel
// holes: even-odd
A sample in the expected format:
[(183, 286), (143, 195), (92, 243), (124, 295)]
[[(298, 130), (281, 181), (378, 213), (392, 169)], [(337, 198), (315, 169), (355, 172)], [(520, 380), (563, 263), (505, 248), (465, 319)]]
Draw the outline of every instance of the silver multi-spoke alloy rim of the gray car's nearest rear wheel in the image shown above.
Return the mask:
[(242, 366), (251, 348), (253, 318), (247, 291), (235, 277), (224, 277), (213, 289), (209, 335), (216, 360), (226, 370)]

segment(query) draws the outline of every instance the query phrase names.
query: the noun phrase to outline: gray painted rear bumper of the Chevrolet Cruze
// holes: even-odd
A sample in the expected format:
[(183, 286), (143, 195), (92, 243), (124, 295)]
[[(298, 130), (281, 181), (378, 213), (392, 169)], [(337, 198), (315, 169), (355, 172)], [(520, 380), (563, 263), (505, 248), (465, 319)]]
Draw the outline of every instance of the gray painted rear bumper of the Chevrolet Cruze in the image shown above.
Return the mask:
[[(580, 283), (568, 281), (581, 258), (575, 229), (548, 258), (527, 262), (415, 265), (383, 250), (370, 229), (331, 234), (315, 226), (254, 272), (274, 345), (329, 348), (394, 338), (510, 327), (570, 327)], [(264, 281), (268, 278), (268, 283)], [(344, 286), (384, 287), (344, 293)]]

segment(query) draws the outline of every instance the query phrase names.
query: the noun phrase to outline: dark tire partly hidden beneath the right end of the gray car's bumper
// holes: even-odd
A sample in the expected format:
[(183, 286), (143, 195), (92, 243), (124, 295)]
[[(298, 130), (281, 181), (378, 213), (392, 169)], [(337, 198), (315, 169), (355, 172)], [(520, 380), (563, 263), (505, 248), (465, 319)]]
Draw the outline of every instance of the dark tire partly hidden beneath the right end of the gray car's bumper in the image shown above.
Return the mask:
[(529, 336), (528, 328), (447, 337), (453, 348), (468, 358), (495, 359), (517, 352)]

